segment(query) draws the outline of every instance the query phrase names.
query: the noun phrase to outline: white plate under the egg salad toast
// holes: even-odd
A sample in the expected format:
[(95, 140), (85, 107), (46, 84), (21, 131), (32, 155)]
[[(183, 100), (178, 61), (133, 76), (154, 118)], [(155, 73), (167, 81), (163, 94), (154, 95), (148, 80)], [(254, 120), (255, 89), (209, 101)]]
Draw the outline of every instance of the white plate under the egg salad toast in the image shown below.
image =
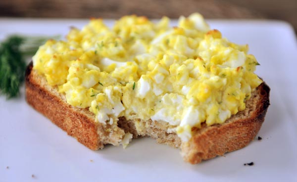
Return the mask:
[[(12, 33), (65, 35), (88, 20), (0, 19), (0, 39)], [(108, 21), (107, 24), (110, 24)], [(174, 22), (173, 22), (174, 23)], [(297, 42), (280, 21), (210, 20), (212, 28), (248, 44), (261, 66), (256, 73), (271, 88), (265, 122), (247, 147), (198, 165), (183, 162), (179, 150), (135, 139), (127, 147), (92, 151), (67, 136), (20, 98), (0, 96), (0, 182), (53, 181), (296, 181)], [(253, 166), (244, 163), (254, 162)], [(6, 169), (6, 167), (9, 169)]]

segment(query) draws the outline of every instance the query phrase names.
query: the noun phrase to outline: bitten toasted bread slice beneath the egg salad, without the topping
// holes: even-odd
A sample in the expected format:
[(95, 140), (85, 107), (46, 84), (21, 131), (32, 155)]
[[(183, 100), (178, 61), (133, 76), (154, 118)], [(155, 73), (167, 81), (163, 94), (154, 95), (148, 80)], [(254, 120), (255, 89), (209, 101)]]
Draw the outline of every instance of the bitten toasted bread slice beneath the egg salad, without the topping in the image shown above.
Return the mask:
[[(69, 105), (65, 95), (50, 87), (45, 77), (32, 68), (31, 62), (26, 70), (27, 102), (68, 135), (93, 150), (108, 143), (119, 145), (125, 133), (131, 133), (133, 137), (149, 136), (156, 138), (158, 143), (181, 148), (184, 160), (196, 164), (245, 147), (260, 130), (269, 106), (270, 89), (262, 83), (252, 92), (244, 111), (223, 124), (204, 124), (200, 129), (194, 128), (193, 137), (182, 142), (175, 133), (167, 133), (169, 125), (166, 122), (126, 120), (124, 117), (119, 118), (117, 126), (96, 122), (95, 115), (88, 108)], [(143, 126), (142, 130), (136, 130), (136, 125)]]

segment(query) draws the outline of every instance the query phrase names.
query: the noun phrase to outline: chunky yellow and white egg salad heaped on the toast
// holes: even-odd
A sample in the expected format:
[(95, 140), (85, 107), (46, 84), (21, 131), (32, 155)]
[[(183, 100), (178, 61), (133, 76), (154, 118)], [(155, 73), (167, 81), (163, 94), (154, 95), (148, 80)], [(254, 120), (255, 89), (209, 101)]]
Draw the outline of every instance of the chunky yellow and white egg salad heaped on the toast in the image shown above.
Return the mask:
[(198, 13), (180, 17), (173, 28), (167, 17), (153, 23), (131, 15), (112, 28), (101, 19), (72, 28), (65, 41), (41, 46), (33, 65), (97, 122), (164, 121), (187, 141), (201, 123), (220, 124), (245, 109), (262, 82), (247, 50), (210, 30)]

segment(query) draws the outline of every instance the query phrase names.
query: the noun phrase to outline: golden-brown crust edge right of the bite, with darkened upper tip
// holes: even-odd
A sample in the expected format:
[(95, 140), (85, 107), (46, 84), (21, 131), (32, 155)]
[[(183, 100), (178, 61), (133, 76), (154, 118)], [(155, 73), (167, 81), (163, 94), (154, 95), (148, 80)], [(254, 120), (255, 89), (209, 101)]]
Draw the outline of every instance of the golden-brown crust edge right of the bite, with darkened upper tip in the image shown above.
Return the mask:
[(197, 131), (188, 142), (182, 143), (184, 160), (197, 164), (202, 160), (247, 146), (257, 135), (264, 122), (270, 105), (269, 92), (270, 88), (265, 83), (257, 88), (259, 99), (256, 99), (256, 109), (249, 114), (249, 117), (207, 127), (203, 132)]

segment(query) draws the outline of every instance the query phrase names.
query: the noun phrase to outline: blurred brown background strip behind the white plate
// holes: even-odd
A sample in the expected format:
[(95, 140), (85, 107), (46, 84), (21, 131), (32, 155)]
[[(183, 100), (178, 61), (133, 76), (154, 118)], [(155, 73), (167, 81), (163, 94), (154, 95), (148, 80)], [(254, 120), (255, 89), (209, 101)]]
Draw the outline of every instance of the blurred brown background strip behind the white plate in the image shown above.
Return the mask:
[(297, 30), (297, 0), (0, 0), (0, 17), (177, 18), (193, 12), (205, 18), (285, 20)]

